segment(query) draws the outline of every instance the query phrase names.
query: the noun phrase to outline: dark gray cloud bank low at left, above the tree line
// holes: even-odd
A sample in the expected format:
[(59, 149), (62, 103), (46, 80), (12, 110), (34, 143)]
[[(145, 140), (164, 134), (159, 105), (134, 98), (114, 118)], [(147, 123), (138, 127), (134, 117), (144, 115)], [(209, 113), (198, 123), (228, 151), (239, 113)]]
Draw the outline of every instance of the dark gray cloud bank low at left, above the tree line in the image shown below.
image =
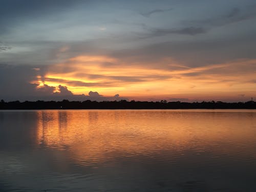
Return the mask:
[(10, 66), (0, 65), (0, 98), (5, 101), (35, 101), (35, 100), (55, 100), (68, 99), (70, 101), (110, 101), (129, 100), (116, 94), (112, 97), (105, 97), (98, 92), (90, 91), (88, 95), (73, 94), (67, 87), (58, 86), (59, 92), (54, 92), (55, 87), (44, 84), (37, 88), (38, 84), (30, 83), (36, 77), (35, 70), (31, 66)]

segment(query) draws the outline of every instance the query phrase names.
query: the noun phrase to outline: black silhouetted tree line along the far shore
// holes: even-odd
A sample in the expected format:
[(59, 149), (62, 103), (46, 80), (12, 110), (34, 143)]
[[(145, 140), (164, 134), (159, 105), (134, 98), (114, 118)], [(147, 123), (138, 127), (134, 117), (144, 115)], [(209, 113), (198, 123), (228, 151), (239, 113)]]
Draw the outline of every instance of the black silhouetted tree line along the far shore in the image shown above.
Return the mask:
[(0, 110), (43, 109), (256, 109), (256, 102), (167, 102), (161, 101), (0, 101)]

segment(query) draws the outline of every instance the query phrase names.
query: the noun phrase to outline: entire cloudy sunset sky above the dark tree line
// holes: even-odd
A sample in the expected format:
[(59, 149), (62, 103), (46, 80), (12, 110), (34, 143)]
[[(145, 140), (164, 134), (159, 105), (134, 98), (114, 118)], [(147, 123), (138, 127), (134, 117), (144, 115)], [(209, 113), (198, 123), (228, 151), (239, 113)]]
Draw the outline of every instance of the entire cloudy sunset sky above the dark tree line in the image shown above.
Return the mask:
[(0, 0), (0, 99), (256, 98), (254, 0)]

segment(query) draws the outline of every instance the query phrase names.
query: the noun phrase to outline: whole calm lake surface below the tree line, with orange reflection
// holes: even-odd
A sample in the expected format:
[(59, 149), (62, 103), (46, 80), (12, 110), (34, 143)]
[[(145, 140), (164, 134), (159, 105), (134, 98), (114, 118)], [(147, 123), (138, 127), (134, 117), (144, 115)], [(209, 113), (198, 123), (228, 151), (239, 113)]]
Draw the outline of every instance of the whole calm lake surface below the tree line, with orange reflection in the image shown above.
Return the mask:
[(256, 110), (0, 111), (0, 191), (256, 191)]

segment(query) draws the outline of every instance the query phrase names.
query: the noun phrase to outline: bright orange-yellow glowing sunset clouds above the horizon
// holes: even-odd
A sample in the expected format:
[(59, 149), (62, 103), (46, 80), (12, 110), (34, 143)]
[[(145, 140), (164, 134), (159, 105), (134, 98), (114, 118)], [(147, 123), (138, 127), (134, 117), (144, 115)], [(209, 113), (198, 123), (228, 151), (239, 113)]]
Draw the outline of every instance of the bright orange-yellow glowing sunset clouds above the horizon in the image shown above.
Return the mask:
[(93, 90), (108, 96), (118, 92), (131, 99), (170, 96), (207, 99), (255, 94), (255, 59), (196, 68), (180, 65), (172, 58), (159, 63), (161, 66), (165, 63), (169, 69), (157, 68), (151, 62), (124, 63), (109, 56), (81, 55), (49, 66), (44, 78), (37, 78), (37, 84), (39, 87), (44, 83), (52, 87), (61, 84), (74, 94)]

